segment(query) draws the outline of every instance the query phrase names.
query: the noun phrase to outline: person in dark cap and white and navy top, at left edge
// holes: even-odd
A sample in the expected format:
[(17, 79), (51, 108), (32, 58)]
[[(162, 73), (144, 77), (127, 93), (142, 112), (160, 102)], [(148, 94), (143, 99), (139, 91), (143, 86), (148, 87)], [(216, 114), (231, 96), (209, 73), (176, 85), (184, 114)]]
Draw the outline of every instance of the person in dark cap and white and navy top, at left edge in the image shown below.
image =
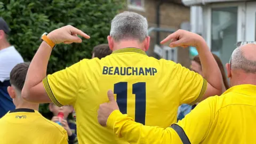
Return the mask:
[(9, 32), (9, 26), (0, 17), (0, 118), (7, 111), (15, 109), (7, 87), (11, 85), (9, 79), (12, 68), (23, 62), (19, 52), (7, 40)]

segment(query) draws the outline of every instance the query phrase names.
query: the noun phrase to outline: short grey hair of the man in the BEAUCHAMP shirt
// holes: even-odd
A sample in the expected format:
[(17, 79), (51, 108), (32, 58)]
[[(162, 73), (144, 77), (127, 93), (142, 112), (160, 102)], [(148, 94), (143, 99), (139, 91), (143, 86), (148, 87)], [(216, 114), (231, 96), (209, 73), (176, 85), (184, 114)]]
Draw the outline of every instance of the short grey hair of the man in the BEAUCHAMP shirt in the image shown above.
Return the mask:
[(143, 42), (148, 36), (148, 21), (138, 13), (119, 13), (111, 22), (110, 36), (117, 42), (122, 39), (138, 39)]

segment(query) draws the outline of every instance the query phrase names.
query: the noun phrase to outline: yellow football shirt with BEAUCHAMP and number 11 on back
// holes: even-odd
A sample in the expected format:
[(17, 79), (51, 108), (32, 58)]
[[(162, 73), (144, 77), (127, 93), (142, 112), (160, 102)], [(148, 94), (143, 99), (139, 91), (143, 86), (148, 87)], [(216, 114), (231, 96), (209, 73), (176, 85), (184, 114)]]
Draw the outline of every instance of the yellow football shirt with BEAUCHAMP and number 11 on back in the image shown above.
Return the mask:
[(108, 90), (114, 91), (122, 113), (166, 128), (177, 122), (180, 104), (193, 105), (207, 86), (201, 75), (136, 48), (116, 50), (101, 60), (84, 59), (48, 75), (43, 84), (55, 105), (74, 106), (79, 143), (126, 143), (98, 123), (97, 111), (108, 101)]

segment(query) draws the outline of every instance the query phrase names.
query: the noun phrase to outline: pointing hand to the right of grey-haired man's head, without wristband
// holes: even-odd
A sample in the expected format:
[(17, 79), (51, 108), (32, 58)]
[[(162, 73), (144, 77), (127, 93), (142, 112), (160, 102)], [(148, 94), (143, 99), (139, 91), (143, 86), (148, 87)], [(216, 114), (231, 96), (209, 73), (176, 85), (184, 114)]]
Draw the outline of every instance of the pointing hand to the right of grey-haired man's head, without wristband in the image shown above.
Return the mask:
[(181, 47), (188, 47), (188, 46), (198, 46), (200, 45), (202, 42), (204, 42), (203, 37), (192, 33), (190, 31), (187, 30), (177, 30), (174, 33), (172, 33), (171, 35), (167, 36), (162, 42), (161, 44), (166, 43), (167, 41), (170, 41), (171, 43), (169, 44), (170, 47), (177, 47), (177, 46), (181, 46)]

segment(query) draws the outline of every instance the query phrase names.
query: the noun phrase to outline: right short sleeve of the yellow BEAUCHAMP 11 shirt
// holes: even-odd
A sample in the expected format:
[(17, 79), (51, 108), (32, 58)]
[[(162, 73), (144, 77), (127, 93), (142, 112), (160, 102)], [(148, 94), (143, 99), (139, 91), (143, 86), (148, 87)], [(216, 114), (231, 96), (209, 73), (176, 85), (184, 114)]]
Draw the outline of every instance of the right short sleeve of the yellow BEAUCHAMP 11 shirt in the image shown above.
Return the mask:
[(177, 77), (179, 81), (180, 104), (194, 105), (203, 97), (207, 81), (198, 73), (177, 64)]

